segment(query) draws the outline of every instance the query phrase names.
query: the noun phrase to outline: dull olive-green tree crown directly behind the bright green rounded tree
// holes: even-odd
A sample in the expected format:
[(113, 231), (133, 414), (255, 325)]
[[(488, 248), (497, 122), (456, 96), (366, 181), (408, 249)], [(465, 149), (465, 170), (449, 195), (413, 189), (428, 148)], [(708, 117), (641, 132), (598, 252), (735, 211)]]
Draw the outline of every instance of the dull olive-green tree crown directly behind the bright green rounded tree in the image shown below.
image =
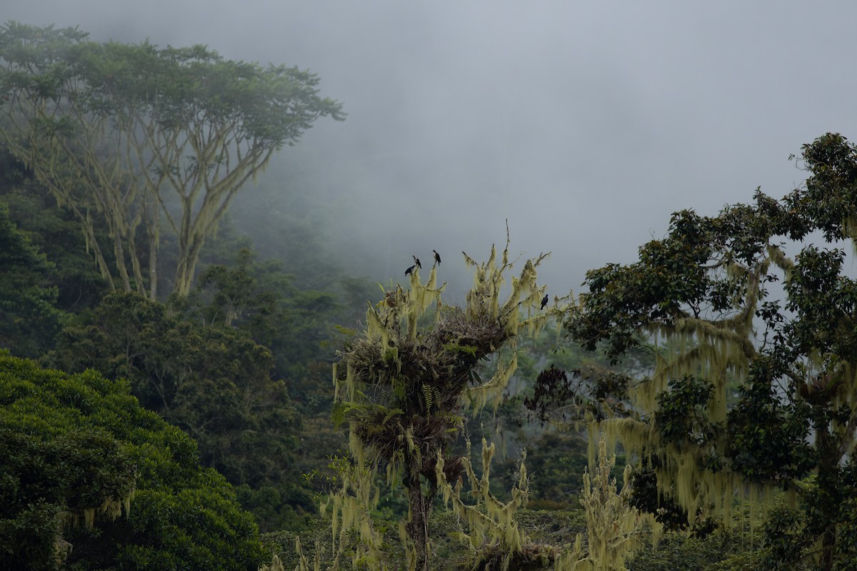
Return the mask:
[[(270, 351), (246, 332), (191, 322), (140, 294), (115, 292), (63, 330), (51, 362), (129, 379), (144, 406), (195, 438), (203, 465), (233, 485), (273, 486), (284, 501), (309, 508), (292, 468), (300, 419), (285, 382), (270, 376)], [(265, 508), (252, 495), (242, 497)]]

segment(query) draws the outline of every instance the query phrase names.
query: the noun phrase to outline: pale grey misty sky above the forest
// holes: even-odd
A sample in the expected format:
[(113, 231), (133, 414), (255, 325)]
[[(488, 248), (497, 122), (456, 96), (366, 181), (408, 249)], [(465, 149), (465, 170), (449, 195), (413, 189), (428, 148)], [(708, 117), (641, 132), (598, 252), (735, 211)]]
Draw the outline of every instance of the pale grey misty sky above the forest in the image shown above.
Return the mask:
[(804, 178), (788, 162), (802, 144), (857, 140), (857, 3), (5, 0), (2, 14), (318, 73), (348, 119), (317, 123), (284, 164), (332, 200), (352, 271), (379, 282), (432, 248), (463, 275), (459, 252), (483, 259), (508, 218), (512, 253), (552, 251), (540, 281), (578, 291), (670, 212), (716, 214), (758, 186), (779, 198)]

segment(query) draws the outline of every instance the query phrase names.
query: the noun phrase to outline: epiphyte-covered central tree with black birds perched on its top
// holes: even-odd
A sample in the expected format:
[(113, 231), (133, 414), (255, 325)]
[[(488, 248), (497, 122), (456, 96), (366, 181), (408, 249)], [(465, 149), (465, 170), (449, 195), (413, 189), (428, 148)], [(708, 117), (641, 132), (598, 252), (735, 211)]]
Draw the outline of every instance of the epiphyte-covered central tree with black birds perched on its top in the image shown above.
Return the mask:
[[(407, 493), (409, 520), (402, 531), (413, 550), (411, 561), (428, 568), (428, 516), (438, 491), (439, 458), (446, 481), (455, 482), (464, 473), (462, 458), (449, 455), (447, 445), (463, 428), (468, 401), (480, 408), (502, 396), (516, 355), (484, 381), (481, 361), (513, 345), (519, 331), (544, 322), (546, 314), (536, 311), (544, 293), (536, 285), (536, 266), (543, 258), (524, 262), (504, 301), (500, 289), (512, 269), (508, 244), (499, 257), (492, 248), (483, 264), (465, 254), (476, 271), (464, 307), (442, 306), (436, 266), (426, 284), (415, 269), (409, 290), (397, 286), (370, 306), (365, 336), (352, 339), (341, 352), (334, 371), (338, 396), (333, 415), (351, 427), (356, 465), (345, 471), (350, 477), (333, 499), (334, 532), (340, 515), (343, 532), (358, 530), (356, 561), (365, 557), (383, 564), (369, 510), (374, 507), (373, 474), (386, 465), (392, 479), (400, 474)], [(432, 306), (434, 318), (428, 314)]]

